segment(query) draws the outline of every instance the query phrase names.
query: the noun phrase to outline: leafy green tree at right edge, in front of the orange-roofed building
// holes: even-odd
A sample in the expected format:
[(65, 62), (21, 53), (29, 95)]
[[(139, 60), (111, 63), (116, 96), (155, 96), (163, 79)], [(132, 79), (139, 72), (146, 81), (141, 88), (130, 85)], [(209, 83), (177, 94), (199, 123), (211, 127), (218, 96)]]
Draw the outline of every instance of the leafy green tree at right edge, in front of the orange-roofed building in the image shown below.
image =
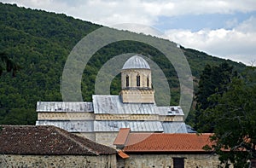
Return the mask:
[[(248, 167), (256, 159), (256, 69), (246, 77), (233, 78), (224, 94), (210, 98), (218, 101), (204, 112), (207, 121), (214, 121), (212, 148), (225, 167)], [(211, 125), (204, 125), (205, 129)], [(224, 151), (228, 150), (227, 151)]]

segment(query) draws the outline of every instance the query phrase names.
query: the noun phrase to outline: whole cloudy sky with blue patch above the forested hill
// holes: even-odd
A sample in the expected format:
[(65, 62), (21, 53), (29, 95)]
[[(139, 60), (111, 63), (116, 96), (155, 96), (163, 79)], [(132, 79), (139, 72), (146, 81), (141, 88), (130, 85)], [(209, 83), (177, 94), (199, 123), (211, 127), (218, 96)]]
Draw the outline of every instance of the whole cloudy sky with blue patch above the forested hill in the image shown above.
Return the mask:
[[(0, 0), (103, 26), (141, 24), (185, 48), (256, 66), (256, 0)], [(145, 29), (132, 30), (148, 34)]]

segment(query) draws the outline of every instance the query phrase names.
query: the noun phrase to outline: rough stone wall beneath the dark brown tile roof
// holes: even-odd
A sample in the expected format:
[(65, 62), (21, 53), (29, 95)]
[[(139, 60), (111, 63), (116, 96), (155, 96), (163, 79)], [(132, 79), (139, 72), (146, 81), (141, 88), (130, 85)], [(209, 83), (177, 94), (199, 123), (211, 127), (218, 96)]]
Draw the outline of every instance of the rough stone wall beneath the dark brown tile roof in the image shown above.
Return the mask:
[(0, 154), (0, 167), (116, 167), (116, 155), (18, 155)]

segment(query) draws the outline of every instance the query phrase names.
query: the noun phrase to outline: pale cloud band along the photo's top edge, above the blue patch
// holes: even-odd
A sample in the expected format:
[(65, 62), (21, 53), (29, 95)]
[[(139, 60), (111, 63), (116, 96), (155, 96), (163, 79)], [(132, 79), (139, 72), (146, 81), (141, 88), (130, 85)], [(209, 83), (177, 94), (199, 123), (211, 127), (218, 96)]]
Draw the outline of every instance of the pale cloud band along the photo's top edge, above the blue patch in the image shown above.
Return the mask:
[(32, 9), (73, 15), (103, 25), (125, 22), (154, 25), (159, 16), (181, 14), (230, 14), (256, 10), (255, 0), (2, 0)]

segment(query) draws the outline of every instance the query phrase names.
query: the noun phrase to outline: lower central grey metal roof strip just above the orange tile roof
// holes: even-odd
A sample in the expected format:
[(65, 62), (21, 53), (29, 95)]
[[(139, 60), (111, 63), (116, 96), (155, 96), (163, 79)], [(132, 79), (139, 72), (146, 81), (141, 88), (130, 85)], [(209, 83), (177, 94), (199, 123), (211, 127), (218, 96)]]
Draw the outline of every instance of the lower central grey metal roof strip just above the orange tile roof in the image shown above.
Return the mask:
[(95, 131), (118, 132), (120, 128), (131, 128), (131, 131), (162, 132), (163, 126), (160, 121), (117, 121), (101, 120), (94, 122)]

